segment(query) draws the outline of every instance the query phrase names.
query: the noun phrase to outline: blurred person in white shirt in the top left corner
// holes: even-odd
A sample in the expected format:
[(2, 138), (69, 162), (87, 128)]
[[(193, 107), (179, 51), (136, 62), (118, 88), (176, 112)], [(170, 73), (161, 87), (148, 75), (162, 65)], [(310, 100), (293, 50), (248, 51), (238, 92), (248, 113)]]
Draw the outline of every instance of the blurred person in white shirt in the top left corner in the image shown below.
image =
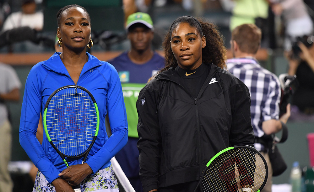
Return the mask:
[(44, 14), (36, 12), (35, 0), (24, 0), (22, 11), (11, 13), (3, 23), (2, 31), (17, 27), (30, 27), (41, 31), (44, 25)]

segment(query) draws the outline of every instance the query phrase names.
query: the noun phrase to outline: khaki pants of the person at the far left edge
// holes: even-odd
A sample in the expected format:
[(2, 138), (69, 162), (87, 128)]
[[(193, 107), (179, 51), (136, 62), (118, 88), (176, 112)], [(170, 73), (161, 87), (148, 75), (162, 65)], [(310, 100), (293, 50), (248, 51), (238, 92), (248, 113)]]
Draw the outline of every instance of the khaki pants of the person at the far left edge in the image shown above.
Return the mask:
[(13, 183), (8, 171), (11, 159), (11, 124), (7, 120), (0, 125), (0, 192), (11, 192)]

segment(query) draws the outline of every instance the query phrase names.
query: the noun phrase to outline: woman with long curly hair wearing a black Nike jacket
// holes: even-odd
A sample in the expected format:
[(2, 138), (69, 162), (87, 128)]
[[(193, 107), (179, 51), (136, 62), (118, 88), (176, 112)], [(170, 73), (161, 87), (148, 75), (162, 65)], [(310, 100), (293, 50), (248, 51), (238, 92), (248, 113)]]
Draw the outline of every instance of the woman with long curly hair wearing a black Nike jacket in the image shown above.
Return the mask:
[(163, 43), (166, 66), (141, 90), (138, 150), (144, 192), (193, 192), (220, 150), (253, 146), (250, 95), (226, 70), (213, 24), (177, 18)]

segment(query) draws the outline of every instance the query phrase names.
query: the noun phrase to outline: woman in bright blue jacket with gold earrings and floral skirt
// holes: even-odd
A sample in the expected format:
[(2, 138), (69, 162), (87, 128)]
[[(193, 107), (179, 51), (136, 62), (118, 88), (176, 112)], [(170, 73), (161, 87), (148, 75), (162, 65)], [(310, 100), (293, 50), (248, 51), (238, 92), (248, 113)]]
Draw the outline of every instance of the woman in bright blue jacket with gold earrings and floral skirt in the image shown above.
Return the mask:
[[(39, 169), (35, 191), (73, 191), (81, 183), (82, 191), (118, 191), (110, 159), (127, 143), (127, 117), (120, 79), (115, 68), (86, 52), (92, 44), (90, 17), (78, 5), (69, 5), (57, 13), (57, 37), (62, 53), (56, 52), (48, 60), (36, 64), (27, 77), (22, 104), (19, 137), (35, 166)], [(100, 113), (98, 137), (87, 161), (69, 162), (69, 168), (51, 147), (46, 135), (42, 145), (36, 130), (48, 97), (56, 89), (78, 85), (95, 97)], [(108, 138), (105, 116), (112, 135)], [(53, 186), (52, 186), (52, 185)]]

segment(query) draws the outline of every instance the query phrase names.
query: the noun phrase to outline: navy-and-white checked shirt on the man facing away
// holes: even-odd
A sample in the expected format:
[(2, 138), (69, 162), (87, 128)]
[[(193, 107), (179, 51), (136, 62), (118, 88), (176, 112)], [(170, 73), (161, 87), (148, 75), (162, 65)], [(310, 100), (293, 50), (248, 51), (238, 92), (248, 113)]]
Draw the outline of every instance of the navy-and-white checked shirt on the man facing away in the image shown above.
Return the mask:
[[(251, 122), (255, 137), (264, 135), (263, 121), (279, 120), (281, 99), (280, 82), (276, 75), (264, 69), (254, 58), (234, 58), (227, 60), (227, 69), (249, 88), (251, 95)], [(259, 143), (257, 150), (263, 150)]]

